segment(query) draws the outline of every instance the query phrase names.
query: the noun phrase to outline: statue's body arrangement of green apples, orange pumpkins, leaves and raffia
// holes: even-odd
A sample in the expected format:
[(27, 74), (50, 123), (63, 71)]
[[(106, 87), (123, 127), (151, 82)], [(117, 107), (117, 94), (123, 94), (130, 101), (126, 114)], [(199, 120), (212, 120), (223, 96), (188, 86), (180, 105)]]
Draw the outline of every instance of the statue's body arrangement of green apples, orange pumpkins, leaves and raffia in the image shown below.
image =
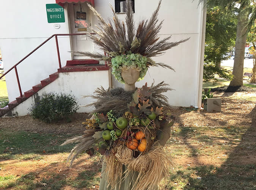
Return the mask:
[[(146, 83), (132, 94), (123, 93), (120, 89), (112, 92), (110, 89), (106, 91), (102, 87), (98, 88), (97, 95), (91, 97), (108, 99), (115, 93), (123, 93), (123, 102), (116, 108), (126, 107), (126, 111), (121, 112), (122, 115), (118, 109), (106, 113), (105, 110), (109, 107), (98, 105), (97, 101), (92, 103), (91, 105), (97, 105), (100, 113), (94, 113), (91, 119), (86, 119), (83, 123), (86, 128), (84, 135), (64, 143), (79, 142), (68, 157), (71, 165), (81, 152), (86, 151), (93, 155), (96, 151), (106, 157), (106, 180), (111, 187), (121, 184), (122, 165), (127, 166), (127, 176), (133, 171), (138, 172), (134, 189), (155, 187), (168, 175), (172, 165), (170, 157), (163, 151), (163, 146), (170, 138), (173, 119), (163, 112), (161, 103), (155, 98), (162, 96), (162, 102), (168, 104), (166, 97), (161, 94), (168, 90), (171, 89), (163, 82), (155, 86), (152, 84), (151, 87)], [(111, 104), (107, 105), (111, 107)]]

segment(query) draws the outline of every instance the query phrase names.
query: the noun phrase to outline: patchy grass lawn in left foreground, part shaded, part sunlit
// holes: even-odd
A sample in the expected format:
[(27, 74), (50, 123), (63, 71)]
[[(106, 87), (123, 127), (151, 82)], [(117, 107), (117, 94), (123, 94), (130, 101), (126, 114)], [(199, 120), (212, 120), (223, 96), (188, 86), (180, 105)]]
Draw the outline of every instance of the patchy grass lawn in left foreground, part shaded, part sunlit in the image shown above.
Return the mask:
[[(62, 189), (63, 186), (70, 185), (74, 188), (89, 189), (95, 184), (99, 184), (97, 177), (100, 167), (96, 171), (83, 170), (77, 176), (69, 176), (63, 179), (60, 170), (55, 171), (54, 167), (61, 160), (61, 168), (68, 170), (66, 157), (74, 144), (60, 146), (71, 135), (54, 135), (49, 133), (33, 133), (26, 131), (11, 132), (10, 130), (0, 130), (0, 168), (11, 165), (16, 168), (30, 168), (30, 172), (20, 176), (1, 175), (0, 189)], [(11, 163), (8, 161), (12, 160)], [(97, 156), (88, 158), (88, 163), (97, 165)], [(90, 163), (91, 164), (91, 163)], [(44, 165), (44, 170), (33, 171), (38, 165)], [(48, 169), (47, 169), (48, 168)], [(53, 168), (53, 170), (51, 170)], [(40, 175), (41, 177), (37, 180)]]

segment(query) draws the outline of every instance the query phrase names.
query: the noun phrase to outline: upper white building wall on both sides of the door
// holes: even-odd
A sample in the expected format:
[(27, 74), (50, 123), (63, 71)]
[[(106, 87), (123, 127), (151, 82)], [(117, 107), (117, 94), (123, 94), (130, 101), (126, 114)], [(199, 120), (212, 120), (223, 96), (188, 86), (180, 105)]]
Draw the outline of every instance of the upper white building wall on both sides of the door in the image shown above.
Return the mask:
[[(95, 8), (104, 17), (112, 17), (109, 3), (114, 6), (114, 0), (95, 0)], [(158, 5), (158, 0), (135, 0), (134, 20), (149, 18)], [(53, 23), (47, 23), (46, 4), (55, 0), (11, 0), (0, 1), (0, 48), (2, 50), (5, 71), (25, 57), (31, 50), (54, 33), (69, 33), (67, 6), (65, 5), (65, 22), (60, 29), (55, 29)], [(11, 7), (11, 11), (9, 8)], [(12, 13), (12, 14), (10, 14)], [(124, 19), (124, 14), (119, 14)], [(170, 41), (184, 38), (190, 40), (166, 51), (155, 61), (170, 64), (176, 72), (163, 68), (150, 68), (144, 80), (137, 82), (138, 87), (148, 82), (151, 85), (165, 81), (170, 88), (175, 89), (166, 93), (169, 102), (174, 106), (201, 105), (201, 84), (203, 80), (203, 54), (205, 18), (202, 6), (192, 0), (162, 0), (159, 20), (164, 20), (160, 31), (160, 38), (172, 35)], [(97, 24), (93, 17), (93, 25)], [(66, 60), (71, 60), (69, 37), (59, 37), (62, 66)], [(95, 49), (96, 50), (96, 49)], [(97, 50), (96, 50), (97, 51)], [(32, 86), (49, 77), (57, 71), (58, 58), (55, 40), (33, 53), (27, 60), (17, 66), (22, 92), (30, 90)], [(98, 79), (105, 79), (99, 75)], [(19, 96), (14, 71), (6, 75), (9, 101)], [(122, 86), (112, 77), (113, 86)], [(79, 87), (78, 87), (79, 88)]]

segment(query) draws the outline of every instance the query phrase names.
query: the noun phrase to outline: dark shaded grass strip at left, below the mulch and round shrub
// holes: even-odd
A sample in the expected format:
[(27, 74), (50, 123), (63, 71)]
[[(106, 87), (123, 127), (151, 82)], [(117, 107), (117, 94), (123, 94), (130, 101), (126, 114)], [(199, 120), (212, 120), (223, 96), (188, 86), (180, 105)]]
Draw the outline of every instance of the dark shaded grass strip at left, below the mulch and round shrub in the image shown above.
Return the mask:
[(70, 152), (74, 144), (60, 146), (71, 135), (55, 135), (52, 133), (32, 133), (26, 131), (10, 132), (0, 130), (0, 160), (28, 160), (38, 154), (54, 154)]

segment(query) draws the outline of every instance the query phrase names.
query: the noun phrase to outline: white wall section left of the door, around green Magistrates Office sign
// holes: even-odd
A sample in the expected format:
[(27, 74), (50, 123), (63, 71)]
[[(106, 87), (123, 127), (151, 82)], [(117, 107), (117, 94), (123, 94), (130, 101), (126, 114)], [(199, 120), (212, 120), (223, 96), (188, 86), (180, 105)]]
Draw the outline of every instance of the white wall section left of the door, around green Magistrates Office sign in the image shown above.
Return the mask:
[[(33, 49), (55, 33), (69, 33), (68, 14), (64, 10), (65, 22), (59, 29), (47, 22), (46, 4), (55, 0), (9, 0), (0, 1), (0, 48), (5, 71), (24, 58)], [(68, 36), (58, 37), (62, 65), (71, 60)], [(17, 66), (22, 92), (57, 72), (58, 56), (55, 39), (51, 39), (35, 53)], [(20, 96), (15, 72), (6, 75), (9, 101)]]

